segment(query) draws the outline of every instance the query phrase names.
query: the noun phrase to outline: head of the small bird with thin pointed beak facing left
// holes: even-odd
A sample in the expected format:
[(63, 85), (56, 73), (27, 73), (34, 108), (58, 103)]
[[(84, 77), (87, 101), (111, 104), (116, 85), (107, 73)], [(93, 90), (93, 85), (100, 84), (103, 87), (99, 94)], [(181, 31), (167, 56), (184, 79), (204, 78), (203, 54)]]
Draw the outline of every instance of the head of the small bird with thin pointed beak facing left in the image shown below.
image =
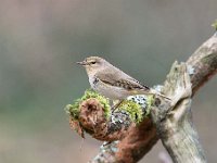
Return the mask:
[(104, 59), (99, 57), (89, 57), (77, 64), (85, 66), (88, 75), (95, 74), (98, 71), (102, 71), (106, 64), (108, 64)]

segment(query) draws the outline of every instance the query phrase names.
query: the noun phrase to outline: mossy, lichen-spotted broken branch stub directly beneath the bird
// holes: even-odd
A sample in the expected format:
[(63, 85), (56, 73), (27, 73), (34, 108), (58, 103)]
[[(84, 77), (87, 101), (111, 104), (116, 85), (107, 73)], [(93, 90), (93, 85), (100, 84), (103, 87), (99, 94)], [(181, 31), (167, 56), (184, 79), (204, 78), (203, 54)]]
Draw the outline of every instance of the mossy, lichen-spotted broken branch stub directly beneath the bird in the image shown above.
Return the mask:
[(142, 122), (149, 115), (153, 96), (131, 96), (111, 111), (110, 100), (88, 89), (65, 111), (69, 114), (72, 129), (82, 138), (85, 131), (103, 141), (119, 140), (130, 126)]

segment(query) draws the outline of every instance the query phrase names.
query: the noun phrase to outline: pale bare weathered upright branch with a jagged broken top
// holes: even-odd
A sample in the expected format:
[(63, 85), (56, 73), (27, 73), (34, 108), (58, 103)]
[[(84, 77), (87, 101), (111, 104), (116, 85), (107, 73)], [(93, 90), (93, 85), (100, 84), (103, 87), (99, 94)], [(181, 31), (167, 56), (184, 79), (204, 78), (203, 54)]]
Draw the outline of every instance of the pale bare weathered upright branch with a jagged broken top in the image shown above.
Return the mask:
[(164, 91), (174, 97), (171, 106), (164, 103), (152, 109), (157, 135), (174, 162), (204, 163), (205, 154), (191, 116), (191, 80), (187, 64), (174, 63)]

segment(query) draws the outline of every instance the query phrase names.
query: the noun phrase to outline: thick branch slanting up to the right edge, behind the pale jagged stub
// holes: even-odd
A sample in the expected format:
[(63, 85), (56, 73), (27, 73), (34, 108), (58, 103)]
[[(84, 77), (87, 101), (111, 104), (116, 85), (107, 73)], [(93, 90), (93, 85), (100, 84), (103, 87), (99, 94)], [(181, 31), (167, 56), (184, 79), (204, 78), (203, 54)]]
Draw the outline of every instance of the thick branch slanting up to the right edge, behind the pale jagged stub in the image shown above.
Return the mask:
[(192, 96), (217, 73), (217, 33), (205, 41), (187, 61), (192, 74)]

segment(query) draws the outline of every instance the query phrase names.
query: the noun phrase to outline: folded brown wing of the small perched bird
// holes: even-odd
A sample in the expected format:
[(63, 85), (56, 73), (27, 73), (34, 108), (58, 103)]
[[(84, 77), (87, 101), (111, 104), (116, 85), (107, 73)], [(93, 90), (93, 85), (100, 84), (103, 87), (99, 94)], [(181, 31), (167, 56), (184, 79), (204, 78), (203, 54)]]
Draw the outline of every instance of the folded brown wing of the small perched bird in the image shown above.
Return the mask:
[(98, 73), (95, 75), (98, 79), (103, 82), (104, 84), (122, 87), (125, 89), (133, 90), (133, 89), (142, 89), (150, 90), (148, 86), (140, 84), (135, 78), (128, 76), (127, 74), (119, 75), (118, 73)]

